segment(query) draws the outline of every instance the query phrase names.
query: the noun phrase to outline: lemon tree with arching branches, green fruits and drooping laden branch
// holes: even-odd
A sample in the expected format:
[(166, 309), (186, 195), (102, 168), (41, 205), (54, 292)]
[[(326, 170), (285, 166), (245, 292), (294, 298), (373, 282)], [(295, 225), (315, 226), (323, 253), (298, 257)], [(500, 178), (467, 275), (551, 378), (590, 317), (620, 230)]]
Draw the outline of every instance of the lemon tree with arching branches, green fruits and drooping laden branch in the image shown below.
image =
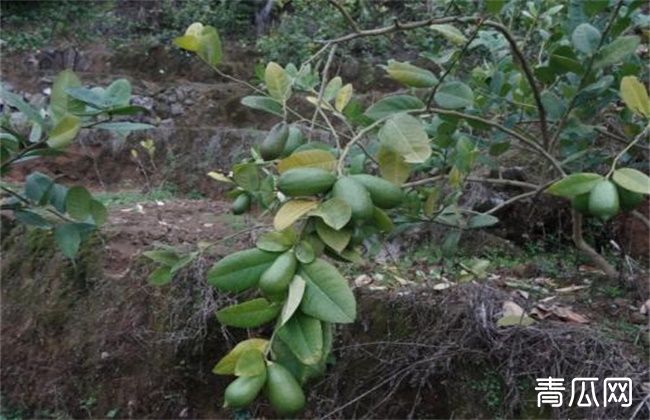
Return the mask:
[[(231, 187), (234, 213), (257, 206), (274, 215), (273, 229), (218, 261), (208, 282), (250, 297), (219, 310), (221, 323), (272, 333), (238, 344), (215, 366), (236, 377), (225, 405), (243, 408), (264, 395), (280, 415), (303, 409), (303, 387), (332, 360), (334, 326), (357, 315), (333, 262), (362, 261), (364, 242), (396, 224), (448, 226), (443, 248), (453, 251), (463, 232), (498, 223), (501, 208), (554, 194), (575, 208), (576, 246), (618, 276), (581, 226), (583, 215), (607, 221), (650, 194), (647, 175), (631, 165), (648, 147), (650, 117), (634, 34), (647, 25), (639, 6), (540, 0), (522, 13), (517, 2), (476, 2), (461, 7), (464, 15), (434, 7), (423, 20), (365, 30), (345, 12), (350, 32), (323, 40), (306, 62), (268, 63), (258, 86), (240, 81), (252, 90), (241, 103), (277, 124), (230, 173), (209, 175)], [(429, 66), (387, 62), (399, 94), (364, 105), (352, 83), (330, 77), (339, 44), (416, 29), (437, 44), (421, 54)], [(236, 80), (218, 68), (218, 39), (216, 29), (194, 24), (176, 44)], [(311, 105), (308, 115), (296, 111), (299, 103)], [(602, 124), (605, 114), (624, 135)], [(331, 143), (314, 140), (314, 129), (329, 132)], [(498, 169), (512, 150), (534, 157), (542, 182), (473, 175)], [(479, 213), (460, 204), (473, 182), (526, 191)]]

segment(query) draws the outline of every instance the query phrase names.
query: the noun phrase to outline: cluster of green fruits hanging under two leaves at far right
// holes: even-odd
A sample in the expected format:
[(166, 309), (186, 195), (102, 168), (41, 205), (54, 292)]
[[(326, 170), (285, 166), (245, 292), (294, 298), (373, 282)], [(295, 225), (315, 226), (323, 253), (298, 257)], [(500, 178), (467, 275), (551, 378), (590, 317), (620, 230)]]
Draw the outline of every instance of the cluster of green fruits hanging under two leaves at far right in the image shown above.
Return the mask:
[(644, 198), (643, 194), (629, 191), (609, 179), (603, 179), (596, 183), (591, 191), (573, 197), (571, 205), (582, 214), (607, 220), (621, 210), (634, 210)]

